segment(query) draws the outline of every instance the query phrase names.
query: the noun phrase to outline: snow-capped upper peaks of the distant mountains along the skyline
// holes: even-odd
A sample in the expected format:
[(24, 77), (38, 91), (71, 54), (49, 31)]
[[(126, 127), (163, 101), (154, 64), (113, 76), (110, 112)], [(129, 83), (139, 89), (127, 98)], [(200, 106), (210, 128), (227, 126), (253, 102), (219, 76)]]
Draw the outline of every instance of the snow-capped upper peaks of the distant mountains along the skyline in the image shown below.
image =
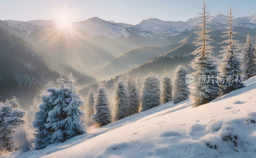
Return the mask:
[[(210, 24), (216, 25), (211, 29), (222, 29), (226, 24), (228, 17), (222, 14), (216, 16), (208, 16), (207, 19), (210, 20)], [(134, 31), (140, 36), (150, 37), (150, 38), (166, 38), (170, 36), (177, 35), (186, 29), (191, 29), (195, 27), (201, 18), (189, 19), (186, 22), (183, 21), (163, 21), (157, 18), (150, 18), (148, 20), (143, 20), (137, 25), (116, 23), (114, 21), (102, 20), (98, 17), (93, 17), (85, 21), (74, 22), (73, 27), (75, 29), (80, 29), (88, 35), (89, 38), (94, 38), (97, 36), (107, 36), (112, 39), (118, 39), (120, 36), (128, 38), (130, 36), (129, 31)], [(24, 34), (31, 34), (33, 31), (40, 30), (42, 28), (47, 28), (52, 25), (56, 25), (53, 20), (33, 20), (33, 21), (14, 21), (14, 20), (4, 20), (9, 26), (16, 28), (23, 32)], [(236, 24), (244, 24), (248, 28), (248, 24), (256, 24), (256, 13), (248, 16), (236, 18), (234, 21)], [(221, 26), (220, 26), (221, 25)], [(212, 25), (211, 25), (212, 27)], [(254, 28), (250, 25), (249, 28)], [(46, 31), (49, 29), (46, 29)]]

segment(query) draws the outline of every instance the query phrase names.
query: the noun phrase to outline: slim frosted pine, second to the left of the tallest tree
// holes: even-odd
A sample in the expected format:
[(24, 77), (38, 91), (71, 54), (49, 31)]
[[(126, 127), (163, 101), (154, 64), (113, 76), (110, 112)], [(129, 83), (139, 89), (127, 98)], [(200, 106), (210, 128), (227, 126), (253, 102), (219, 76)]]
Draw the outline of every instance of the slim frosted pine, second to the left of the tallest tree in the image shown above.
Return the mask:
[(167, 74), (167, 69), (164, 70), (162, 79), (162, 104), (172, 100), (172, 80)]

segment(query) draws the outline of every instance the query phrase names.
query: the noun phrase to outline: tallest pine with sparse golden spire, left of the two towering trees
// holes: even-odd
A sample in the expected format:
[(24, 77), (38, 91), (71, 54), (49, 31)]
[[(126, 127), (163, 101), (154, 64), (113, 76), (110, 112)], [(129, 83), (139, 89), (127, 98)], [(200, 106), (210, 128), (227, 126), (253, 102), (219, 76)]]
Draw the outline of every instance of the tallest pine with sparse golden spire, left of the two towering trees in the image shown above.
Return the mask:
[[(217, 66), (214, 62), (215, 59), (210, 56), (212, 52), (212, 46), (210, 43), (212, 39), (210, 39), (209, 30), (206, 30), (207, 27), (205, 24), (208, 20), (205, 19), (209, 14), (205, 11), (205, 4), (203, 9), (203, 16), (199, 16), (203, 18), (203, 22), (198, 25), (195, 33), (198, 35), (196, 37), (195, 43), (196, 46), (199, 46), (195, 51), (191, 54), (196, 55), (195, 59), (191, 61), (191, 67), (196, 70), (192, 75), (197, 78), (198, 82), (194, 82), (192, 84), (192, 89), (190, 92), (190, 99), (193, 103), (193, 107), (197, 107), (203, 104), (208, 103), (209, 101), (215, 99), (218, 96), (219, 86), (217, 84)], [(207, 14), (207, 15), (206, 15)], [(211, 80), (207, 80), (207, 78)]]

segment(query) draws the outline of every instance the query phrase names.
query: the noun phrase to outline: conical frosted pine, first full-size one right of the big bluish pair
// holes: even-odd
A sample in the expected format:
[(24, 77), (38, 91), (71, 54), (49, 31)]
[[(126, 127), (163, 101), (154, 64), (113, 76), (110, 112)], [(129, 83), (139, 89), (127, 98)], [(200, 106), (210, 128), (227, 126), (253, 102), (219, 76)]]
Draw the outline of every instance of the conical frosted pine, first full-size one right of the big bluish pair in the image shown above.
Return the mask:
[(98, 94), (95, 102), (95, 114), (92, 115), (92, 120), (97, 122), (99, 126), (111, 123), (111, 111), (106, 94), (106, 88), (103, 83), (99, 84)]

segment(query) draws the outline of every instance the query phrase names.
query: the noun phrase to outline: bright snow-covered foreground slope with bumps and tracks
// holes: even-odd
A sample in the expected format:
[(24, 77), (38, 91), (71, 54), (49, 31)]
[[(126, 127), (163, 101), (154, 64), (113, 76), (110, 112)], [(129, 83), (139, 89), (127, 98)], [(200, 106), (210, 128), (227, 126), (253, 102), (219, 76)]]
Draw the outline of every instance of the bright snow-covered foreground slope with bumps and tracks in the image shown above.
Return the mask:
[(172, 101), (64, 143), (4, 157), (256, 157), (256, 77), (192, 108)]

